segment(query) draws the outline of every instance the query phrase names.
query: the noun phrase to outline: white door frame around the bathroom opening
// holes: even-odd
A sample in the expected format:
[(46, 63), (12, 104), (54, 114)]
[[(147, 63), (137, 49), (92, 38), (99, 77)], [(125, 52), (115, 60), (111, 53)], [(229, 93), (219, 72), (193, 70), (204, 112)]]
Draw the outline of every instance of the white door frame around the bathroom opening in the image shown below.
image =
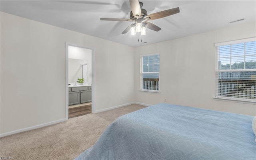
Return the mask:
[(95, 64), (95, 59), (94, 59), (94, 48), (90, 48), (87, 46), (79, 46), (76, 44), (72, 44), (70, 42), (66, 42), (66, 120), (68, 120), (68, 46), (74, 46), (78, 48), (86, 48), (89, 50), (92, 50), (92, 113), (95, 113), (95, 70), (94, 70), (94, 64)]

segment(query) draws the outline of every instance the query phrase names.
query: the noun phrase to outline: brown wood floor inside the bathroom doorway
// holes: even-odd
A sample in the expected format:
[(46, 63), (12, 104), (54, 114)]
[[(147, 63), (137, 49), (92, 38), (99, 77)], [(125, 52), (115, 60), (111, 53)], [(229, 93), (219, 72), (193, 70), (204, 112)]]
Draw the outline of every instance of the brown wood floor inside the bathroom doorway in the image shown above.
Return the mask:
[(90, 114), (90, 113), (92, 113), (92, 105), (91, 104), (88, 104), (86, 106), (68, 108), (68, 118), (83, 116), (85, 114)]

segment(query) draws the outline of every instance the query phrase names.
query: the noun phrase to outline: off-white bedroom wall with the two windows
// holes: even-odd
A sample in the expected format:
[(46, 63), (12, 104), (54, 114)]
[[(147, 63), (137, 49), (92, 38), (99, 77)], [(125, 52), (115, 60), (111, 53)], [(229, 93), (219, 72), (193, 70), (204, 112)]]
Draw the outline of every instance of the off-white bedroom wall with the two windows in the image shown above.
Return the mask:
[[(256, 24), (230, 26), (136, 48), (135, 101), (145, 104), (164, 102), (212, 110), (256, 115), (255, 104), (215, 100), (214, 43), (256, 36)], [(160, 54), (160, 93), (140, 92), (141, 54)]]

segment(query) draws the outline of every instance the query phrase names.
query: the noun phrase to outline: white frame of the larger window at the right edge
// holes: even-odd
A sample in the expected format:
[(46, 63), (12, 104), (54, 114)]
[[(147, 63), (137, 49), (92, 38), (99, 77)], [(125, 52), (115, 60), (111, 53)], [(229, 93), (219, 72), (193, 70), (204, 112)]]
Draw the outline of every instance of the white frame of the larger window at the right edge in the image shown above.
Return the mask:
[[(256, 99), (250, 99), (250, 98), (237, 98), (237, 97), (232, 97), (232, 96), (219, 96), (219, 73), (220, 72), (250, 72), (250, 71), (256, 71), (256, 69), (231, 69), (230, 64), (230, 69), (227, 70), (220, 70), (219, 69), (219, 52), (218, 52), (218, 47), (219, 46), (226, 46), (226, 45), (232, 45), (232, 44), (240, 44), (240, 43), (246, 43), (246, 42), (254, 42), (256, 41), (256, 37), (252, 38), (245, 38), (245, 39), (240, 39), (240, 40), (233, 40), (233, 41), (227, 41), (227, 42), (219, 42), (215, 43), (215, 99), (220, 99), (220, 100), (227, 100), (227, 101), (235, 101), (235, 102), (242, 102), (242, 103), (248, 103), (248, 104), (256, 104)], [(244, 57), (246, 57), (246, 54), (244, 54)], [(232, 56), (230, 57), (232, 58)], [(246, 61), (244, 61), (244, 66), (246, 65)]]

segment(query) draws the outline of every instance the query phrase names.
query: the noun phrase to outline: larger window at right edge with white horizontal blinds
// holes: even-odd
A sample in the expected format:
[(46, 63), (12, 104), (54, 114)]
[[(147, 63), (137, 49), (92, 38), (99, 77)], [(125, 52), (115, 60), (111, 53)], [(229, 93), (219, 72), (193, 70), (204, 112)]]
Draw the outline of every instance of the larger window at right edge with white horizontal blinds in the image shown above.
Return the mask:
[(256, 38), (215, 47), (216, 97), (256, 102)]

